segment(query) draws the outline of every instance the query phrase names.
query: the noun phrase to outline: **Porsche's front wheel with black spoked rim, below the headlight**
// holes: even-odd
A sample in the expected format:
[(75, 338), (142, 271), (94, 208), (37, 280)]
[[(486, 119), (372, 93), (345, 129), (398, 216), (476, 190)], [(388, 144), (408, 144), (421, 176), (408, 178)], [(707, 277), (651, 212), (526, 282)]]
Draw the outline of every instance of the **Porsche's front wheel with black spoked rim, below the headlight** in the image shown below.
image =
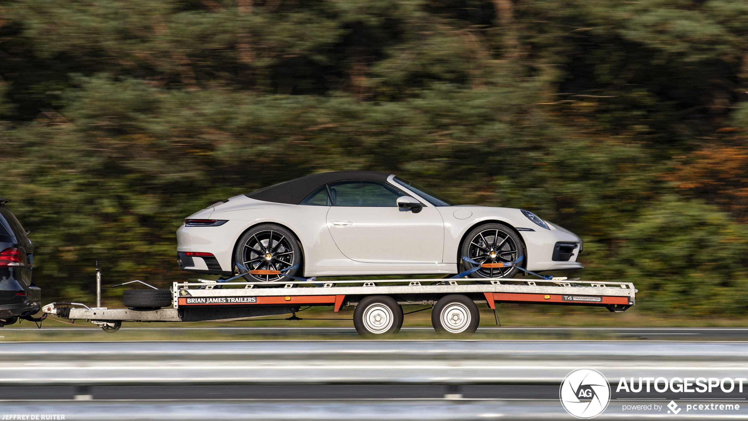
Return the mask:
[[(515, 230), (503, 224), (483, 224), (470, 230), (460, 248), (461, 256), (470, 257), (479, 263), (514, 262), (524, 255), (524, 244)], [(524, 266), (525, 261), (519, 262)], [(473, 268), (473, 264), (460, 259), (460, 271)], [(468, 277), (478, 279), (500, 279), (514, 277), (520, 269), (480, 268)], [(490, 280), (477, 280), (477, 283), (491, 283)]]

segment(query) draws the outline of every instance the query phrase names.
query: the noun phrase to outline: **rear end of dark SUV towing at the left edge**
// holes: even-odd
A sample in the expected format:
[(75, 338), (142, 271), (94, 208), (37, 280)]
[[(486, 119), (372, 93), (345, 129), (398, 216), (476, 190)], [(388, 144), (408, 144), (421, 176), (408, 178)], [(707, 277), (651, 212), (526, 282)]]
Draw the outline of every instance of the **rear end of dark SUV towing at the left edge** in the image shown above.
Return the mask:
[(31, 281), (34, 246), (0, 197), (0, 326), (41, 309), (41, 289)]

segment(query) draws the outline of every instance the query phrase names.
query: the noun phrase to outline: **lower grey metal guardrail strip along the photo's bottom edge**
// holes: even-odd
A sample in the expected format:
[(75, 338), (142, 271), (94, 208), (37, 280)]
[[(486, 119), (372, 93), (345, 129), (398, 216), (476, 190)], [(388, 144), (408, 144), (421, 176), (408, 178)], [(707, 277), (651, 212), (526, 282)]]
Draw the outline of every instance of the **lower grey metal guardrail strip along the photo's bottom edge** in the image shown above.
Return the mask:
[[(698, 410), (695, 405), (703, 403)], [(680, 417), (689, 420), (744, 420), (746, 406), (730, 408), (715, 402), (680, 402)], [(722, 404), (728, 402), (719, 402)], [(595, 421), (674, 418), (668, 402), (611, 402)], [(738, 405), (735, 405), (737, 407)], [(624, 408), (622, 408), (624, 407)], [(4, 420), (70, 420), (70, 421), (545, 421), (575, 420), (557, 399), (551, 400), (471, 400), (471, 399), (325, 399), (325, 400), (203, 400), (203, 401), (54, 401), (3, 402)], [(13, 417), (11, 414), (16, 414)], [(27, 417), (17, 417), (27, 414)], [(28, 414), (37, 417), (29, 418)], [(50, 414), (52, 414), (50, 416)]]

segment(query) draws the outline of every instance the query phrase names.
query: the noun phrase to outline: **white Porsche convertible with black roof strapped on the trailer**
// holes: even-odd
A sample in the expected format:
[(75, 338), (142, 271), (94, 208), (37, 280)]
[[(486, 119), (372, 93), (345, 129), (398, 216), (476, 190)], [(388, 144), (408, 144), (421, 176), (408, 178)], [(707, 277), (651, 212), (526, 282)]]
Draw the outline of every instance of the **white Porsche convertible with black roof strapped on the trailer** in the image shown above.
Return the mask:
[[(580, 251), (578, 236), (533, 212), (457, 205), (375, 171), (319, 173), (230, 197), (177, 230), (180, 268), (223, 276), (248, 270), (249, 282), (457, 274), (473, 268), (467, 256), (482, 265), (469, 276), (489, 283), (523, 268), (583, 268)], [(518, 260), (521, 267), (487, 264)]]

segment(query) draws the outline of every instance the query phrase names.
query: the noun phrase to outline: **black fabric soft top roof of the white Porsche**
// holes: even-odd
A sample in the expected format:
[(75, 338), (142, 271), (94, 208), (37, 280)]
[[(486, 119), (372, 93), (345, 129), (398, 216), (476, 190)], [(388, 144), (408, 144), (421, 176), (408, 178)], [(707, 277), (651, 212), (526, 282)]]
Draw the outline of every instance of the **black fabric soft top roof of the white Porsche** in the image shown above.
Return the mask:
[(257, 191), (245, 194), (255, 200), (266, 202), (289, 203), (296, 205), (322, 185), (346, 179), (373, 179), (386, 182), (390, 173), (378, 171), (334, 171), (331, 173), (313, 174), (292, 179), (281, 184), (271, 185)]

